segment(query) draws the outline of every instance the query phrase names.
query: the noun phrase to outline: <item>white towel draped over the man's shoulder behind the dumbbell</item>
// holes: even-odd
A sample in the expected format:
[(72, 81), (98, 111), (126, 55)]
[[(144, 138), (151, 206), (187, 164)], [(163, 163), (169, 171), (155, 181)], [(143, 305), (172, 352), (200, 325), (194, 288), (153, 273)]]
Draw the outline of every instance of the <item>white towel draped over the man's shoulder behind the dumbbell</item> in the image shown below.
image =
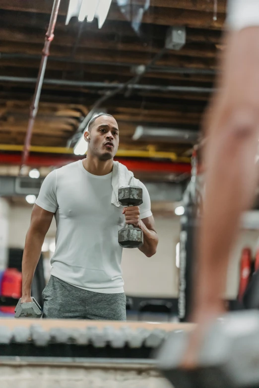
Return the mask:
[(133, 172), (119, 162), (113, 162), (113, 176), (112, 176), (112, 204), (119, 208), (118, 190), (120, 187), (137, 185), (137, 179), (134, 178)]

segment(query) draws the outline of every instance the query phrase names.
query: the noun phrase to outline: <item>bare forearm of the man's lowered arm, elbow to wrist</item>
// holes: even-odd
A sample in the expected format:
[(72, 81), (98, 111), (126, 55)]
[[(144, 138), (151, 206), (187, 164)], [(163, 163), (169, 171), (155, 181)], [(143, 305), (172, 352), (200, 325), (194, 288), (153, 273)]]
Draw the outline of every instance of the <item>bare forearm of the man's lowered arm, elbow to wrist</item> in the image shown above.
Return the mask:
[(32, 232), (30, 229), (26, 235), (25, 248), (22, 257), (22, 295), (30, 296), (31, 284), (35, 269), (41, 255), (44, 242), (42, 233)]

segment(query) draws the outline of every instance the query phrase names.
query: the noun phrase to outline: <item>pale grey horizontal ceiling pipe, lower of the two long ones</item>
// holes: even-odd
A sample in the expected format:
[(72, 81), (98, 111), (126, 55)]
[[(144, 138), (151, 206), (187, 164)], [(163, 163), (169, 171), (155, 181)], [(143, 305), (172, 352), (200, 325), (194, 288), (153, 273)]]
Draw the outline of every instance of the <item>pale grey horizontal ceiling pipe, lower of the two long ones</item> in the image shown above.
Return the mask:
[[(35, 83), (36, 78), (30, 77), (12, 77), (12, 76), (0, 76), (0, 82), (24, 82)], [(61, 85), (61, 86), (74, 86), (74, 87), (88, 87), (88, 88), (102, 88), (102, 89), (125, 89), (125, 84), (113, 84), (107, 82), (95, 82), (95, 81), (72, 81), (65, 79), (49, 79), (46, 78), (43, 81), (46, 85)], [(135, 90), (150, 90), (157, 92), (187, 92), (187, 93), (213, 93), (214, 88), (203, 88), (193, 86), (164, 86), (164, 85), (144, 85), (144, 84), (129, 84), (126, 86), (129, 89)], [(105, 96), (106, 97), (106, 96)]]

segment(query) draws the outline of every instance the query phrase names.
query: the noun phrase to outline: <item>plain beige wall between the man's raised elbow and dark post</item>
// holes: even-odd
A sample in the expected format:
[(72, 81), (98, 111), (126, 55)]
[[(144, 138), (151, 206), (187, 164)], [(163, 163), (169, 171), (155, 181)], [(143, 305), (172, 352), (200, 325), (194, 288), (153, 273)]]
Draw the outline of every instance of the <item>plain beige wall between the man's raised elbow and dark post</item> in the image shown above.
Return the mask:
[(123, 275), (125, 291), (131, 296), (176, 297), (178, 295), (178, 269), (176, 244), (179, 241), (180, 218), (155, 218), (159, 235), (157, 253), (144, 256), (139, 250), (124, 249)]

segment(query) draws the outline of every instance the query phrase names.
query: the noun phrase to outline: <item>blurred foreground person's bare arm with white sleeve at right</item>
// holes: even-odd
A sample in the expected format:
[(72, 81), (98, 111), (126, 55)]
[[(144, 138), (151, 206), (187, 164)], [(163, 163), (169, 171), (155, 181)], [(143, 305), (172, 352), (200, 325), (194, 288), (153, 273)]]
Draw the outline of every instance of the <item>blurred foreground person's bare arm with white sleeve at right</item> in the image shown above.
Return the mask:
[(227, 24), (218, 92), (204, 124), (206, 193), (193, 311), (198, 326), (184, 360), (187, 368), (196, 364), (204, 326), (224, 311), (230, 252), (258, 182), (259, 0), (229, 0)]

